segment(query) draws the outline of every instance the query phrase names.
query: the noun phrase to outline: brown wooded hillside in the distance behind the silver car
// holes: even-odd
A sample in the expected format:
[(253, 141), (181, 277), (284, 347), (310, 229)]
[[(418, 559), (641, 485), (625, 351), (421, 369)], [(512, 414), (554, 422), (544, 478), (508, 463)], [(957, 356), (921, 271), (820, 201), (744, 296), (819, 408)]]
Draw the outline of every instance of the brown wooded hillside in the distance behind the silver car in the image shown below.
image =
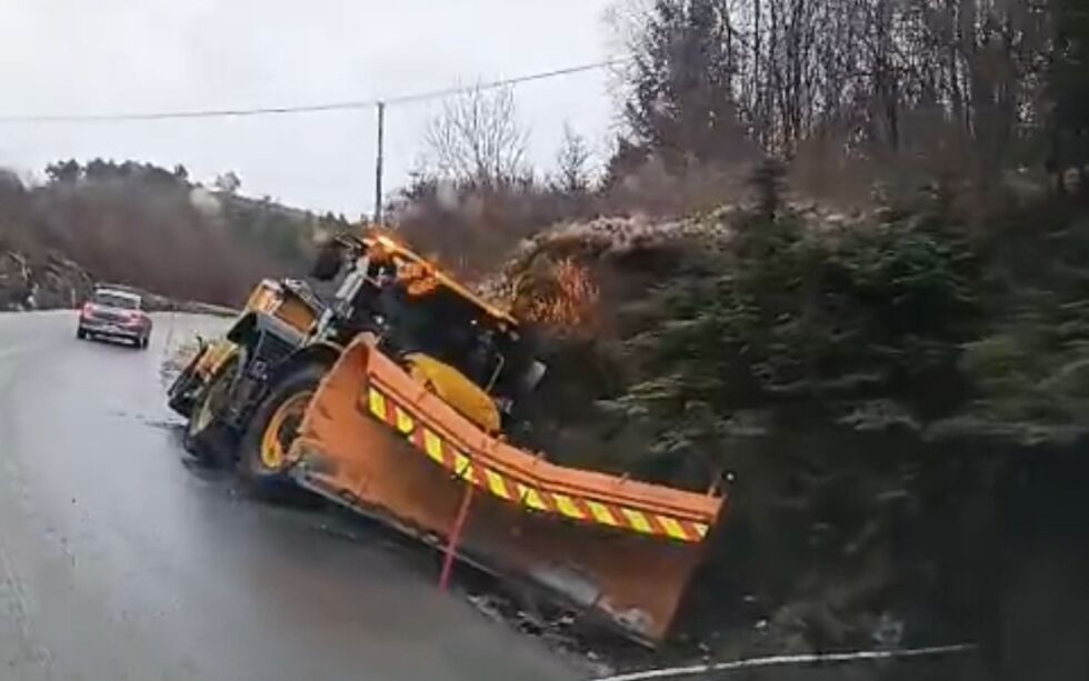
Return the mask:
[(232, 304), (261, 277), (301, 276), (313, 237), (342, 219), (191, 182), (182, 168), (56, 163), (0, 176), (0, 304), (71, 304), (90, 281)]

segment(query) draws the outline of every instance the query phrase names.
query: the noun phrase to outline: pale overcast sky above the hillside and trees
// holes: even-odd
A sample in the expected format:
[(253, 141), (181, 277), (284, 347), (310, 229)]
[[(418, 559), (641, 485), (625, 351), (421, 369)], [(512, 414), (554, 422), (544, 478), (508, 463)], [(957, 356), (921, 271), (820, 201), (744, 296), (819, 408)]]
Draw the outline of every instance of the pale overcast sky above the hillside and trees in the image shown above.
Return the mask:
[[(280, 106), (389, 97), (609, 58), (609, 0), (0, 0), (0, 117)], [(516, 91), (531, 157), (565, 121), (605, 146), (608, 74)], [(388, 112), (387, 188), (440, 103)], [(349, 217), (373, 203), (371, 111), (229, 120), (0, 124), (0, 166), (60, 158), (234, 170), (242, 192)]]

